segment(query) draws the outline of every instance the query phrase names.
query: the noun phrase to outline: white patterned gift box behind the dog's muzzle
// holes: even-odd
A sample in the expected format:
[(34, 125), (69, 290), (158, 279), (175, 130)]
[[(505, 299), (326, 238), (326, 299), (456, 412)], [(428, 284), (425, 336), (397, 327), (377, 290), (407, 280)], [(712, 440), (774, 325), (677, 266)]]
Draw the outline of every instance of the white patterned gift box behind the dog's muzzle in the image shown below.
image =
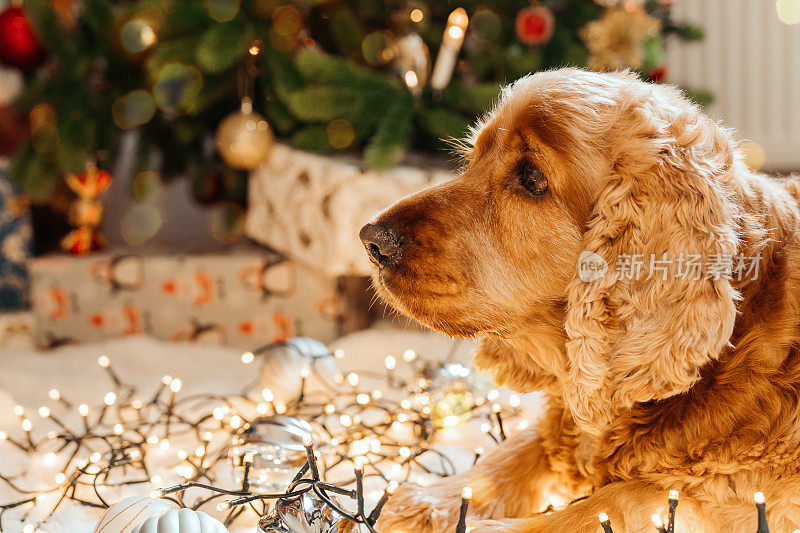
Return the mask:
[(361, 165), (345, 156), (275, 145), (267, 163), (250, 175), (245, 231), (329, 276), (368, 275), (361, 226), (400, 198), (450, 175), (438, 159), (385, 171)]

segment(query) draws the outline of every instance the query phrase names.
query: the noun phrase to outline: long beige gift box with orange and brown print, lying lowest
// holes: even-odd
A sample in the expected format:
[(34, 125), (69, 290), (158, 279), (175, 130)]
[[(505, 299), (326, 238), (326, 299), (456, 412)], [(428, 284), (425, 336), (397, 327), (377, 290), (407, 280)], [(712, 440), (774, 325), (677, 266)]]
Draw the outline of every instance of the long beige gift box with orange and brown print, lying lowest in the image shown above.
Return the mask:
[(265, 249), (174, 255), (51, 255), (31, 262), (39, 344), (119, 335), (253, 349), (294, 335), (337, 337), (340, 280)]

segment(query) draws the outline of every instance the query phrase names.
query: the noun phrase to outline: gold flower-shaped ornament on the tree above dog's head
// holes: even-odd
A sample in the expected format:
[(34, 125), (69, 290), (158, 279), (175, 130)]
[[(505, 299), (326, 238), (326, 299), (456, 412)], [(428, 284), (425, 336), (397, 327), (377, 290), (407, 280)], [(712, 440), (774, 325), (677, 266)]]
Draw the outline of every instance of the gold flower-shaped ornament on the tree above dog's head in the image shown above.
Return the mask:
[(642, 66), (642, 43), (658, 34), (661, 22), (637, 2), (609, 7), (603, 16), (581, 28), (580, 37), (589, 49), (592, 70), (619, 70)]

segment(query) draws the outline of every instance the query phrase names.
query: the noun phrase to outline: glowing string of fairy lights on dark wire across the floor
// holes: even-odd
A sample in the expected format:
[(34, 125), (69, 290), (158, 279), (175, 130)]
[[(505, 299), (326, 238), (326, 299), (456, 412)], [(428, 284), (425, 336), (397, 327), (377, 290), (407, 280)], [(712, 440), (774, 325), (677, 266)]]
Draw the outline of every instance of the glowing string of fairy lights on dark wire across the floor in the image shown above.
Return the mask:
[[(272, 344), (247, 352), (242, 355), (242, 363), (250, 364), (257, 356), (268, 356), (272, 349), (286, 345)], [(330, 356), (341, 358), (343, 354), (337, 352)], [(415, 474), (446, 476), (455, 473), (452, 461), (432, 446), (433, 437), (439, 428), (454, 427), (465, 420), (460, 412), (438, 413), (440, 419), (434, 422), (432, 415), (436, 409), (432, 405), (430, 363), (421, 362), (411, 350), (403, 354), (402, 361), (408, 365), (412, 377), (400, 378), (395, 372), (397, 360), (388, 356), (386, 373), (373, 373), (373, 377), (382, 378), (386, 386), (371, 392), (359, 388), (361, 378), (356, 373), (337, 374), (333, 384), (321, 379), (319, 382), (326, 390), (308, 391), (307, 379), (312, 372), (317, 374), (312, 364), (309, 371), (302, 373), (299, 396), (281, 403), (269, 389), (258, 390), (253, 385), (229, 396), (180, 397), (183, 383), (171, 376), (164, 376), (156, 391), (143, 399), (136, 387), (118, 375), (111, 359), (100, 356), (97, 363), (105, 369), (113, 389), (105, 394), (99, 407), (75, 406), (58, 390), (51, 389), (48, 396), (52, 406), (38, 409), (41, 426), (51, 428), (44, 436), (37, 436), (34, 423), (22, 406), (14, 407), (22, 437), (0, 432), (0, 446), (11, 446), (37, 456), (42, 465), (54, 467), (56, 474), (47, 486), (28, 488), (23, 484), (27, 471), (15, 475), (0, 473), (0, 481), (19, 495), (14, 501), (0, 504), (0, 532), (4, 531), (3, 519), (9, 511), (21, 512), (15, 519), (25, 523), (24, 533), (33, 533), (44, 526), (65, 501), (104, 509), (110, 506), (104, 497), (109, 489), (141, 485), (154, 489), (152, 497), (170, 500), (180, 507), (199, 510), (214, 506), (224, 515), (222, 521), (226, 526), (247, 514), (264, 517), (271, 502), (313, 495), (340, 517), (376, 533), (374, 525), (380, 512), (400, 483), (413, 479)], [(362, 376), (367, 374), (370, 373), (362, 373)], [(508, 404), (500, 403), (499, 398), (496, 389), (476, 395), (469, 414), (470, 418), (485, 420), (481, 430), (495, 442), (505, 440), (506, 422), (520, 414), (519, 397), (511, 396)], [(61, 412), (75, 410), (81, 421), (77, 427), (65, 423), (60, 416)], [(370, 422), (376, 419), (376, 413), (377, 421)], [(257, 424), (259, 417), (271, 415), (297, 417), (314, 428), (313, 435), (303, 436), (305, 461), (285, 490), (253, 490), (249, 475), (254, 464), (252, 453), (241, 459), (241, 479), (228, 487), (219, 486), (222, 472), (230, 469), (232, 461), (235, 463), (243, 432)], [(406, 426), (413, 438), (392, 436), (391, 429), (398, 424)], [(523, 421), (516, 429), (525, 427)], [(179, 441), (182, 441), (180, 446), (173, 445)], [(164, 454), (170, 452), (174, 452), (169, 462), (170, 471), (183, 481), (161, 488), (165, 480), (153, 464), (158, 461), (152, 459), (163, 460)], [(482, 453), (481, 448), (475, 450), (475, 461)], [(436, 468), (432, 468), (431, 461), (426, 458), (435, 458)], [(342, 466), (351, 469), (352, 477), (338, 479), (336, 483), (326, 479), (328, 471)], [(375, 478), (383, 484), (377, 503), (369, 511), (365, 503), (365, 478)], [(352, 486), (354, 488), (348, 488)], [(472, 495), (471, 487), (463, 489), (456, 533), (467, 530)], [(346, 499), (349, 505), (343, 505), (338, 498)], [(764, 495), (756, 493), (754, 501), (757, 533), (769, 533)], [(35, 522), (27, 521), (33, 509), (39, 506), (47, 507), (45, 515)], [(675, 533), (677, 507), (678, 491), (673, 490), (668, 495), (667, 516), (656, 513), (652, 517), (656, 532)], [(613, 533), (606, 513), (600, 513), (598, 520), (604, 533)], [(800, 533), (800, 530), (793, 533)]]

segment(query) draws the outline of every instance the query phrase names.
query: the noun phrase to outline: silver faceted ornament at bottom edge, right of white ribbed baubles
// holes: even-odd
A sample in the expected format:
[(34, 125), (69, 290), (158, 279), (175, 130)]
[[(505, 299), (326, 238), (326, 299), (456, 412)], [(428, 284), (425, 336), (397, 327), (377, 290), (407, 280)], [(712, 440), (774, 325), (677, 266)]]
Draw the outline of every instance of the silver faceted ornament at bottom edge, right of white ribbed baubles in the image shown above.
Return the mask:
[[(333, 499), (331, 497), (331, 499)], [(338, 505), (339, 503), (333, 499)], [(293, 500), (278, 500), (268, 515), (258, 521), (259, 533), (346, 533), (355, 524), (313, 493)]]

